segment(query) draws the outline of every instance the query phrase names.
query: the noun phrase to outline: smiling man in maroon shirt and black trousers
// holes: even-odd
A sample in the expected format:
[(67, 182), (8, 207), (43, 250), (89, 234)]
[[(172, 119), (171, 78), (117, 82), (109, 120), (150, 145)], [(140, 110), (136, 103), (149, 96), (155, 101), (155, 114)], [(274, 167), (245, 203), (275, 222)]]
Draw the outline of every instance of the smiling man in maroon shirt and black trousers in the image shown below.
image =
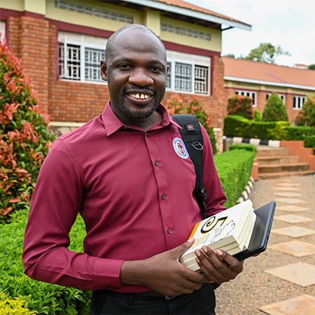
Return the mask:
[[(242, 263), (224, 251), (196, 251), (202, 273), (179, 257), (202, 214), (195, 167), (180, 126), (160, 102), (165, 47), (142, 25), (116, 31), (101, 62), (110, 102), (102, 115), (59, 137), (31, 200), (23, 262), (32, 279), (93, 290), (90, 314), (215, 314), (212, 283), (235, 279)], [(207, 214), (225, 195), (204, 137)], [(174, 146), (181, 143), (181, 152)], [(78, 213), (84, 253), (69, 251)], [(172, 297), (172, 298), (169, 298)]]

